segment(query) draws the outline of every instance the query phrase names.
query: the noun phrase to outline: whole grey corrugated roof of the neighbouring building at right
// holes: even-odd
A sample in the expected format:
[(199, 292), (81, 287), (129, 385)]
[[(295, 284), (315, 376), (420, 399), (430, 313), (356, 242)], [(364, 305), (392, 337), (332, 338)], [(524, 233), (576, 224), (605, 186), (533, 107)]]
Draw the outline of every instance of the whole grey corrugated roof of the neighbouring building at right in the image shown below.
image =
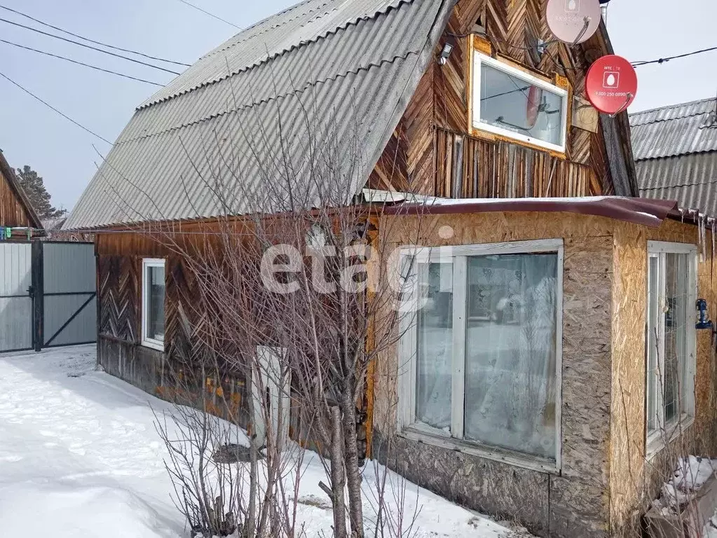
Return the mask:
[(717, 216), (717, 100), (630, 115), (640, 195)]

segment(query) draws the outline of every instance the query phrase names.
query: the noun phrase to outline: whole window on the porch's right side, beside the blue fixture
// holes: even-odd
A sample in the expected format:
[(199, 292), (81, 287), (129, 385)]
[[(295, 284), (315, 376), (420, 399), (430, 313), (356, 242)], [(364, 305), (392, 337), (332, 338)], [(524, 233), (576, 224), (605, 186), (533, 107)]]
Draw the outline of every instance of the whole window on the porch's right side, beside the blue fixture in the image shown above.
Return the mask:
[(650, 241), (647, 258), (647, 451), (694, 415), (696, 248)]

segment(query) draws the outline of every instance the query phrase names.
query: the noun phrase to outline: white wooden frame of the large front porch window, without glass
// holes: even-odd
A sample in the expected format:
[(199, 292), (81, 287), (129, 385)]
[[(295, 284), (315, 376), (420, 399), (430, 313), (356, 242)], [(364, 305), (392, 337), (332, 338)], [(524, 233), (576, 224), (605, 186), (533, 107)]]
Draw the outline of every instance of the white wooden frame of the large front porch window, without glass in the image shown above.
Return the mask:
[[(450, 251), (450, 254), (447, 254)], [(465, 392), (465, 330), (467, 312), (467, 256), (495, 254), (557, 254), (556, 274), (556, 402), (555, 402), (555, 459), (488, 446), (479, 441), (462, 439), (463, 403)], [(411, 262), (411, 259), (414, 261)], [(417, 368), (417, 314), (400, 314), (399, 342), (399, 406), (397, 413), (399, 435), (450, 450), (470, 453), (512, 465), (556, 474), (561, 468), (561, 407), (562, 407), (562, 341), (563, 341), (563, 259), (562, 239), (511, 241), (508, 243), (475, 244), (450, 247), (411, 247), (401, 252), (401, 266), (411, 267), (406, 279), (417, 277), (417, 264), (453, 264), (453, 365), (451, 390), (451, 433), (415, 421)], [(411, 286), (409, 302), (415, 304), (418, 286)]]

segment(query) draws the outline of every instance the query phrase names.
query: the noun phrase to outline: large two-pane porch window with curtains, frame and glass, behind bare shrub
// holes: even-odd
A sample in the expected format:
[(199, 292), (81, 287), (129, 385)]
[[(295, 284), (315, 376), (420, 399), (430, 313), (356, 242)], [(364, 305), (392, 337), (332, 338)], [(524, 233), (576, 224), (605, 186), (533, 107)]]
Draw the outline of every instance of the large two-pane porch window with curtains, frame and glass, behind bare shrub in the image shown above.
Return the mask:
[(419, 309), (402, 314), (402, 431), (559, 466), (562, 241), (419, 249), (404, 267)]

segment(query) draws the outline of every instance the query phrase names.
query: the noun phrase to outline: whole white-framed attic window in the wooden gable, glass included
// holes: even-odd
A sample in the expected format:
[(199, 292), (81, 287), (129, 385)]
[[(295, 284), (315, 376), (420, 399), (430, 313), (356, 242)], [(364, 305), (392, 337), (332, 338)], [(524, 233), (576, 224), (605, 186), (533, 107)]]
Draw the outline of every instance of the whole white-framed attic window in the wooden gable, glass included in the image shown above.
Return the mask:
[(473, 128), (564, 153), (567, 103), (563, 88), (474, 54)]

